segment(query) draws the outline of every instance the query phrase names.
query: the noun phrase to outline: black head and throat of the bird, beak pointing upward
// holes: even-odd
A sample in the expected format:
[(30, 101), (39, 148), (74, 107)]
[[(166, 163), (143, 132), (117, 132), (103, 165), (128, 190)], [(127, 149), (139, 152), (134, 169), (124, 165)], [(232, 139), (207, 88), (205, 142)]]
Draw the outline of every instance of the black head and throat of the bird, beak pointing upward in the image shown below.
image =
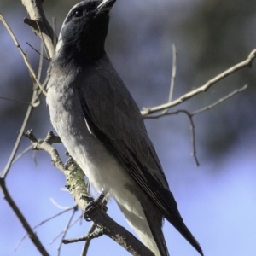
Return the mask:
[[(109, 11), (116, 0), (85, 0), (69, 11), (61, 27), (54, 60), (94, 61), (105, 54)], [(62, 62), (61, 61), (61, 62)]]

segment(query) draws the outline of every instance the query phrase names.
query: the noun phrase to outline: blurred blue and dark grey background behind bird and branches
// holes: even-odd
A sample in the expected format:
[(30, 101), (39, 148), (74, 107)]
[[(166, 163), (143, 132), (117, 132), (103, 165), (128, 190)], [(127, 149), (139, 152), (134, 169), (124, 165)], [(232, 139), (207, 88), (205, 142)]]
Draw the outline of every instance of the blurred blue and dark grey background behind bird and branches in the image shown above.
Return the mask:
[[(44, 1), (49, 22), (54, 16), (57, 32), (77, 1)], [(0, 12), (15, 32), (34, 70), (40, 39), (23, 23), (27, 16), (21, 1), (1, 1)], [(243, 61), (255, 48), (256, 5), (251, 0), (118, 0), (111, 12), (106, 49), (140, 108), (166, 102), (172, 73), (172, 44), (177, 45), (177, 78), (174, 98)], [(0, 96), (30, 102), (32, 81), (9, 33), (0, 24)], [(244, 68), (200, 96), (176, 109), (206, 107), (233, 90), (247, 90), (195, 116), (197, 156), (195, 167), (189, 119), (183, 114), (146, 120), (149, 136), (159, 154), (167, 180), (185, 223), (207, 256), (256, 255), (256, 73)], [(44, 72), (49, 63), (44, 61)], [(44, 77), (43, 75), (43, 77)], [(34, 109), (26, 130), (45, 137), (53, 128), (44, 96)], [(14, 147), (26, 105), (0, 99), (0, 170)], [(18, 153), (30, 142), (22, 139)], [(58, 146), (61, 152), (64, 149)], [(62, 154), (63, 160), (66, 157)], [(35, 161), (36, 160), (36, 161)], [(49, 155), (32, 151), (11, 167), (6, 180), (10, 194), (32, 226), (63, 207), (73, 206), (61, 188), (65, 177), (51, 165)], [(131, 231), (114, 201), (108, 213)], [(77, 217), (80, 212), (77, 212)], [(36, 232), (50, 255), (57, 255), (60, 238), (49, 244), (67, 225), (71, 212), (39, 227)], [(90, 224), (76, 224), (67, 238), (84, 236)], [(165, 223), (167, 246), (172, 255), (198, 255), (172, 225)], [(39, 255), (26, 238), (15, 251), (25, 230), (14, 212), (0, 199), (0, 254)], [(82, 243), (64, 245), (61, 255), (79, 255)], [(129, 255), (108, 237), (91, 242), (89, 255)]]

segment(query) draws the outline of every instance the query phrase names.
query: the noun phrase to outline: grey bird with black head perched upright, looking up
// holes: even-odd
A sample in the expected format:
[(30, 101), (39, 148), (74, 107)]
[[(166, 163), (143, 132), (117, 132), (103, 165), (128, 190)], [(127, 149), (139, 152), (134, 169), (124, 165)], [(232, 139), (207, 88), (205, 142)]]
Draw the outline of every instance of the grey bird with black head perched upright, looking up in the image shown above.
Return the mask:
[(154, 255), (169, 255), (164, 218), (203, 255), (177, 209), (137, 103), (105, 51), (115, 2), (85, 0), (68, 12), (47, 84), (51, 123), (93, 188), (117, 202)]

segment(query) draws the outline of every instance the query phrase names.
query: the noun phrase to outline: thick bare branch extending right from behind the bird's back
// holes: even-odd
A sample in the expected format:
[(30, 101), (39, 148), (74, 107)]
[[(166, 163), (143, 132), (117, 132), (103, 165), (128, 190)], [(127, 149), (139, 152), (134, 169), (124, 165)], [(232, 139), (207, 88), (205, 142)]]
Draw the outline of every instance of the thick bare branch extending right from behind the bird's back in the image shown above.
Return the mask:
[(236, 64), (235, 66), (230, 67), (229, 69), (227, 69), (223, 73), (218, 74), (218, 76), (216, 76), (215, 78), (210, 79), (209, 81), (207, 81), (206, 84), (203, 84), (199, 88), (197, 88), (195, 90), (191, 90), (188, 93), (184, 94), (183, 96), (180, 96), (179, 98), (177, 98), (177, 100), (174, 100), (172, 102), (167, 102), (165, 104), (155, 106), (155, 107), (152, 107), (152, 108), (143, 108), (143, 110), (141, 111), (142, 115), (145, 118), (148, 118), (149, 114), (162, 111), (166, 108), (172, 108), (174, 106), (177, 106), (178, 104), (181, 104), (181, 103), (189, 100), (193, 96), (196, 96), (196, 95), (198, 95), (202, 92), (205, 92), (205, 91), (209, 90), (212, 87), (213, 84), (216, 84), (220, 80), (228, 77), (231, 73), (235, 73), (237, 70), (239, 70), (243, 67), (251, 67), (255, 57), (256, 57), (256, 49), (253, 49), (253, 51), (248, 55), (248, 57), (245, 61), (241, 61), (240, 63)]

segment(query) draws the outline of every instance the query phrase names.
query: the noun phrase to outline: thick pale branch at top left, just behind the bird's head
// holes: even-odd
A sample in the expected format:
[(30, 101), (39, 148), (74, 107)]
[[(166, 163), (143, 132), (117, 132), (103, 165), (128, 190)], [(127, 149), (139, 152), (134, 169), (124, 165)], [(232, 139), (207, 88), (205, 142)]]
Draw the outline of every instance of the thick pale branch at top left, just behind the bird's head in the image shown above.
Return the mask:
[(44, 15), (42, 0), (21, 0), (25, 6), (30, 19), (25, 18), (24, 22), (32, 26), (32, 29), (44, 42), (44, 49), (49, 58), (52, 58), (55, 48), (55, 33)]

